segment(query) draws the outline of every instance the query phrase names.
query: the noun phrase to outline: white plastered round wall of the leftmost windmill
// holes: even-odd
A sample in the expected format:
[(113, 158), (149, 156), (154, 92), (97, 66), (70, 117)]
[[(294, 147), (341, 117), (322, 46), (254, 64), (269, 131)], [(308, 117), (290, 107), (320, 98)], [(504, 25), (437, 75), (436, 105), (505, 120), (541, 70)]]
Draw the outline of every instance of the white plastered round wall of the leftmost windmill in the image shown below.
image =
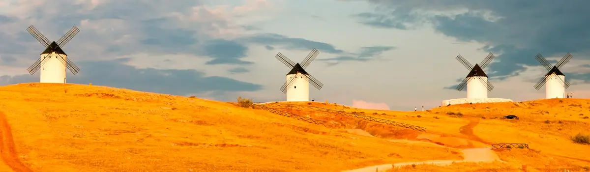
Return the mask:
[[(41, 61), (43, 58), (47, 56), (47, 54), (41, 54)], [(67, 59), (67, 56), (61, 54), (61, 57), (64, 57), (64, 60)], [(60, 61), (60, 56), (52, 52), (49, 57), (47, 57), (47, 61), (41, 65), (39, 69), (41, 73), (41, 81), (42, 83), (65, 83), (65, 65), (63, 62)]]

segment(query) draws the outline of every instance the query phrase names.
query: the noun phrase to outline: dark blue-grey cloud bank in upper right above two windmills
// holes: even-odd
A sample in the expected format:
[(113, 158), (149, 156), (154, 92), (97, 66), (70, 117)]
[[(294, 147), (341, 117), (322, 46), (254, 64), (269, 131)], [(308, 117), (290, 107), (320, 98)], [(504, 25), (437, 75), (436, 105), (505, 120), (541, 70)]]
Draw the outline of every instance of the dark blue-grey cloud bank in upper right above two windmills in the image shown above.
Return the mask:
[[(407, 25), (434, 26), (441, 34), (460, 41), (486, 44), (482, 49), (497, 55), (489, 66), (490, 76), (506, 79), (540, 65), (537, 53), (561, 57), (566, 52), (588, 54), (590, 15), (585, 6), (543, 0), (534, 4), (516, 1), (376, 1), (376, 12), (358, 14), (373, 27), (408, 29)], [(572, 2), (574, 3), (574, 2)], [(578, 55), (574, 58), (588, 56)], [(564, 70), (567, 70), (565, 68)], [(573, 77), (584, 78), (582, 75)]]

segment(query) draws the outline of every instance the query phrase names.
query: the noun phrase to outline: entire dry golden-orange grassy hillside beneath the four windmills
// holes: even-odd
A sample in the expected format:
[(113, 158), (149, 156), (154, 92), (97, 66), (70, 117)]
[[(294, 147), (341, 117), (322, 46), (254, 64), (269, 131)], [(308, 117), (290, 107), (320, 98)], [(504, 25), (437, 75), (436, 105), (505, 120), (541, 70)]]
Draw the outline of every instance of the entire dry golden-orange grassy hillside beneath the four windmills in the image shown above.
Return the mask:
[[(77, 84), (0, 87), (0, 171), (341, 171), (380, 164), (462, 160), (497, 150), (494, 163), (417, 165), (392, 171), (518, 171), (590, 167), (590, 100), (464, 104), (428, 111), (361, 110), (323, 102), (281, 111), (232, 102)], [(321, 107), (427, 128), (413, 131), (312, 110)], [(461, 115), (456, 115), (461, 113)], [(514, 114), (520, 120), (506, 120)], [(375, 171), (375, 170), (373, 170)]]

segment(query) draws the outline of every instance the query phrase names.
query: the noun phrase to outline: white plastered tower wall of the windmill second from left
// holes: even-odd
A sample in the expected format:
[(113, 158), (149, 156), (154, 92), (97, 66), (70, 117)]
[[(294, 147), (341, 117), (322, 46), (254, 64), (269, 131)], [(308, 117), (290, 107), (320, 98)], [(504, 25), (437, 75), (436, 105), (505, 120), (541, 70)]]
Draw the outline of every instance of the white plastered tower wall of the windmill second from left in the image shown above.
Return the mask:
[(287, 88), (287, 101), (309, 101), (309, 81), (301, 73), (287, 75), (286, 81), (291, 81), (293, 77), (297, 80)]

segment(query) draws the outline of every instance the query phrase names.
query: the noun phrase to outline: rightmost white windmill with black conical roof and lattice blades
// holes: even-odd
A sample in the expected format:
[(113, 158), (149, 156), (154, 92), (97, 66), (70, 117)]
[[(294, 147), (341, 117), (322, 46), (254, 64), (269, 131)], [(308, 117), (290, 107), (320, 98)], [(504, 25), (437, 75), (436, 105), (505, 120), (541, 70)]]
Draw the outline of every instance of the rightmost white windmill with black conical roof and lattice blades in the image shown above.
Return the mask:
[(537, 54), (536, 59), (549, 72), (547, 72), (547, 74), (535, 84), (535, 89), (539, 90), (543, 87), (543, 84), (545, 84), (545, 98), (565, 97), (565, 89), (569, 87), (569, 82), (568, 80), (565, 80), (565, 75), (559, 71), (559, 69), (563, 67), (569, 59), (572, 59), (572, 55), (568, 52), (568, 54), (563, 56), (563, 58), (561, 58), (557, 64), (553, 65), (553, 67), (551, 67), (549, 62), (543, 58), (541, 54)]

